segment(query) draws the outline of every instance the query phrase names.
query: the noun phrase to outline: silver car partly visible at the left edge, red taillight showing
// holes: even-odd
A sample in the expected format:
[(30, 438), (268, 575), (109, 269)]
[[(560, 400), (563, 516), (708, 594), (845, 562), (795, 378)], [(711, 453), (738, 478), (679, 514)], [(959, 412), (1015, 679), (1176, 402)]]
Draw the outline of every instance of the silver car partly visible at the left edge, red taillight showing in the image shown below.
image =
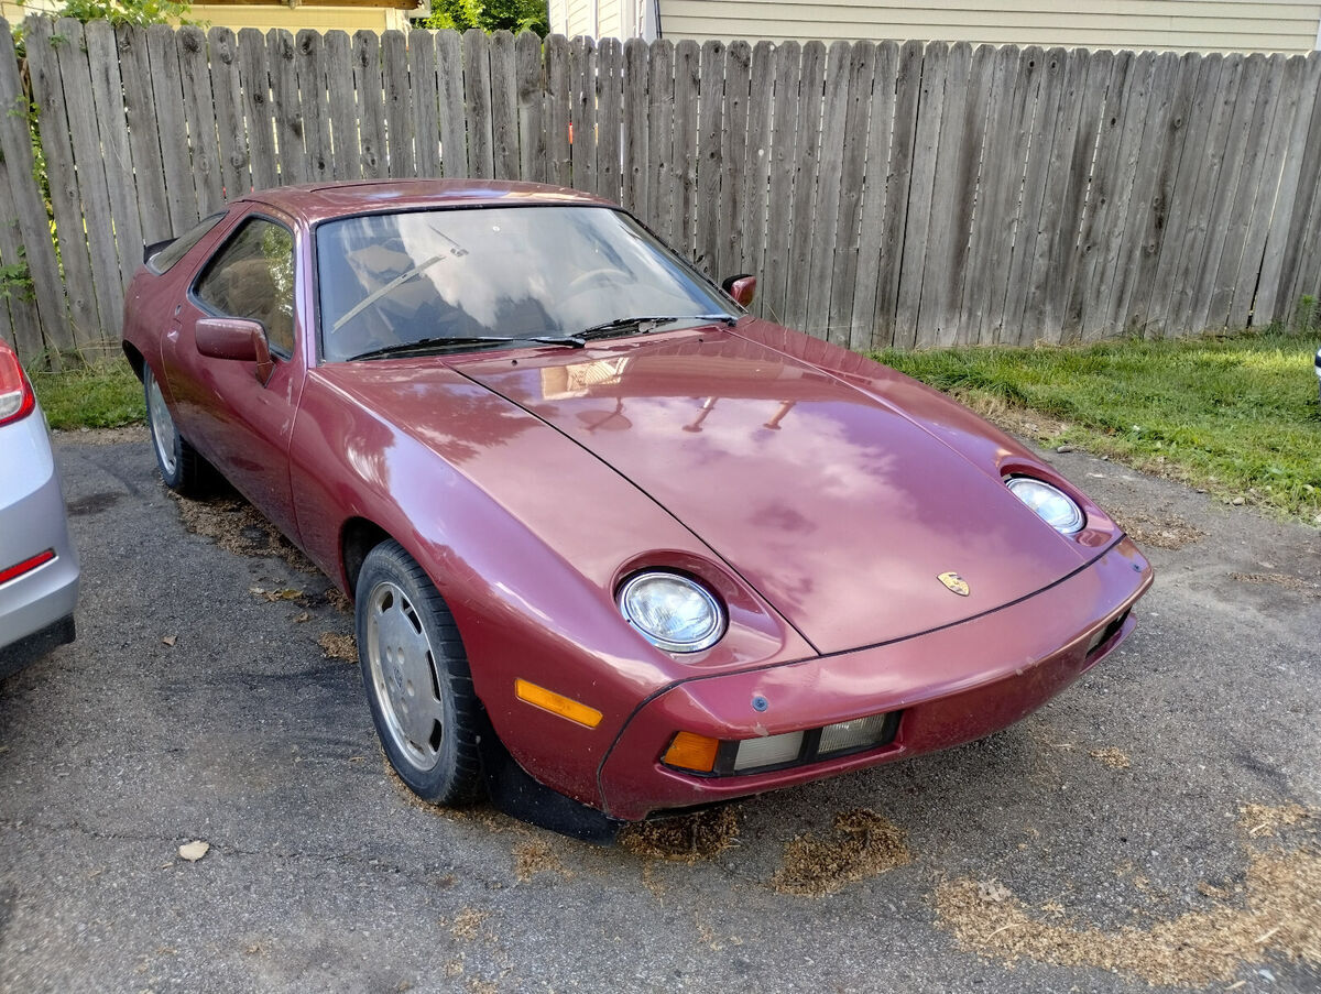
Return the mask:
[(78, 554), (46, 419), (0, 340), (0, 678), (74, 638)]

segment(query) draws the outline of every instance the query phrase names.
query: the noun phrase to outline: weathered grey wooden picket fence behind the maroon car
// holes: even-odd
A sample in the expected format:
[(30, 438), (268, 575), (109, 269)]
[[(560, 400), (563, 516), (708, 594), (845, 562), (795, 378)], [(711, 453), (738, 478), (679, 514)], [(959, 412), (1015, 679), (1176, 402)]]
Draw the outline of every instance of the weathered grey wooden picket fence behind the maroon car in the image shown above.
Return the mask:
[(1316, 54), (37, 19), (26, 54), (49, 218), (0, 21), (0, 334), (29, 361), (118, 348), (144, 242), (330, 180), (593, 190), (857, 349), (1240, 328), (1321, 288)]

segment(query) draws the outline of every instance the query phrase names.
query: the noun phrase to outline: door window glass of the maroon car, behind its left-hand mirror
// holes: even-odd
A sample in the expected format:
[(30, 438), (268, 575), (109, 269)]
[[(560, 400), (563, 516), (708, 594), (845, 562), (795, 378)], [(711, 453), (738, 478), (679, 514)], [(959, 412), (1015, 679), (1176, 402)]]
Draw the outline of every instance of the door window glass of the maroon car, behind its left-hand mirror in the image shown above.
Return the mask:
[(229, 317), (266, 326), (271, 352), (293, 354), (293, 234), (252, 218), (234, 234), (197, 282), (197, 296)]

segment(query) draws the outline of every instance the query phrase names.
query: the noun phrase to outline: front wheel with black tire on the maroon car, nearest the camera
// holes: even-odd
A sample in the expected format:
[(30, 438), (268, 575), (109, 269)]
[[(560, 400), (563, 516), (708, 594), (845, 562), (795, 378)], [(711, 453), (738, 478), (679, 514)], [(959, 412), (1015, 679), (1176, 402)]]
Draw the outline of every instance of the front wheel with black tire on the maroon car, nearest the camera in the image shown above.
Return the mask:
[(358, 661), (376, 735), (424, 801), (458, 805), (481, 789), (481, 703), (453, 615), (395, 541), (367, 554), (357, 588)]

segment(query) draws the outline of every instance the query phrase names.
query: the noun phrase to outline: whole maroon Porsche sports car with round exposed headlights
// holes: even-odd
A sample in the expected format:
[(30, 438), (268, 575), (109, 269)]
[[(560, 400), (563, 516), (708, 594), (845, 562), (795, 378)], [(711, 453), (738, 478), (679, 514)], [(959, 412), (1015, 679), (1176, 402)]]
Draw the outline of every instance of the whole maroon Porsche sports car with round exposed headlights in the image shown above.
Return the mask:
[(255, 193), (148, 250), (124, 350), (357, 604), (417, 794), (583, 837), (1005, 727), (1133, 627), (1145, 559), (939, 393), (758, 320), (620, 208)]

